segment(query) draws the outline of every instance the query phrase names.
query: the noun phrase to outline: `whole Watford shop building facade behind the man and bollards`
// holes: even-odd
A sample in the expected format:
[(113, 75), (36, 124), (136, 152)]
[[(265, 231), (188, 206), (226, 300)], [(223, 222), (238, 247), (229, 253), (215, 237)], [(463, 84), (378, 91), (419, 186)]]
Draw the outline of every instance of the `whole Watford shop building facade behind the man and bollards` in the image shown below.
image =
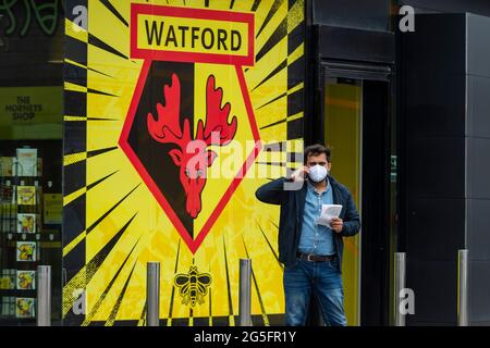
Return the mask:
[(469, 322), (490, 323), (489, 16), (476, 0), (0, 5), (0, 324), (35, 324), (49, 264), (53, 324), (145, 325), (159, 261), (161, 325), (237, 325), (240, 259), (254, 325), (282, 324), (280, 212), (254, 194), (314, 142), (362, 213), (348, 324), (394, 322), (406, 252), (407, 325), (455, 325), (460, 249)]

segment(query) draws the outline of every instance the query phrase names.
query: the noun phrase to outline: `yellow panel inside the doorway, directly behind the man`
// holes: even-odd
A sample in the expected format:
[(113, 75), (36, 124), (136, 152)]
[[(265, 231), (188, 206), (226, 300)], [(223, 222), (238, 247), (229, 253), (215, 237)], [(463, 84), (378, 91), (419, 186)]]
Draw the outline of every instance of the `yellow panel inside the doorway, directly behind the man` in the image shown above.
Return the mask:
[[(332, 149), (331, 174), (350, 189), (362, 212), (363, 80), (326, 78), (323, 132)], [(362, 232), (344, 238), (342, 274), (350, 325), (359, 325), (360, 238)]]

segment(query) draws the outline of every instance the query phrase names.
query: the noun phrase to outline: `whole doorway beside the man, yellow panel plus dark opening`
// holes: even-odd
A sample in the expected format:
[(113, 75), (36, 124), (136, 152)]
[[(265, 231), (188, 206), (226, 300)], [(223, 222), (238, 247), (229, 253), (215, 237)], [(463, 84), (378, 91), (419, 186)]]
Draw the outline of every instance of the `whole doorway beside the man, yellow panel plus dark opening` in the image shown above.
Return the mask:
[(324, 70), (318, 137), (332, 149), (331, 173), (353, 195), (362, 231), (344, 238), (348, 325), (388, 325), (396, 250), (396, 132), (388, 70)]

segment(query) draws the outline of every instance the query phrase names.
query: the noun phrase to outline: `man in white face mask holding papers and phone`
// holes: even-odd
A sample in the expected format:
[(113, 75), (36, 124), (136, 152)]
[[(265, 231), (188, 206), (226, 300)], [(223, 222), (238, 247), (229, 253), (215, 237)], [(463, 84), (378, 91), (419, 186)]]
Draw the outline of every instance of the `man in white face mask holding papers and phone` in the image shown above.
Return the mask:
[[(359, 232), (359, 214), (348, 189), (328, 174), (330, 148), (313, 145), (304, 156), (305, 165), (290, 178), (270, 182), (256, 191), (260, 201), (281, 206), (279, 260), (284, 263), (286, 324), (305, 325), (314, 294), (324, 323), (345, 326), (342, 237)], [(332, 203), (342, 206), (339, 217), (330, 226), (317, 224), (322, 204)]]

